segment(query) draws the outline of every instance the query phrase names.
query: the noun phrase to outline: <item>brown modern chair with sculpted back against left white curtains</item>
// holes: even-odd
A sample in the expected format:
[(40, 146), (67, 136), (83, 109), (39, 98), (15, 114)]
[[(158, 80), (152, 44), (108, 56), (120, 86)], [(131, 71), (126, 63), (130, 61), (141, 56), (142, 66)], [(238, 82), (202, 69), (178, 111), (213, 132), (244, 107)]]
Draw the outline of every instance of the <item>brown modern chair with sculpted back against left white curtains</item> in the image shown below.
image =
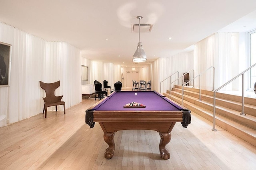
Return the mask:
[(54, 83), (44, 83), (39, 81), (40, 86), (42, 89), (44, 89), (46, 93), (46, 97), (44, 99), (44, 109), (43, 109), (43, 114), (45, 110), (45, 118), (47, 115), (47, 107), (49, 106), (55, 106), (56, 111), (57, 111), (57, 106), (58, 105), (63, 105), (64, 107), (64, 114), (66, 114), (65, 110), (65, 102), (61, 101), (63, 96), (55, 96), (54, 92), (56, 88), (60, 87), (60, 81), (54, 82)]

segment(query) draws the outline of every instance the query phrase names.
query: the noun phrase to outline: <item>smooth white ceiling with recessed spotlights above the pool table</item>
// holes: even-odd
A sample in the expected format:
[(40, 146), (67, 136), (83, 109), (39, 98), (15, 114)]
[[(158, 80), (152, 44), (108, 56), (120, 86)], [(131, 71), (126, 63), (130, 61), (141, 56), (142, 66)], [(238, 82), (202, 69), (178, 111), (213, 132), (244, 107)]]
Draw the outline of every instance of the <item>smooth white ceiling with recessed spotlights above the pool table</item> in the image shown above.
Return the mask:
[[(137, 16), (153, 27), (140, 33), (148, 61), (133, 64)], [(0, 21), (65, 41), (87, 59), (136, 67), (184, 52), (215, 32), (256, 28), (256, 0), (0, 0)]]

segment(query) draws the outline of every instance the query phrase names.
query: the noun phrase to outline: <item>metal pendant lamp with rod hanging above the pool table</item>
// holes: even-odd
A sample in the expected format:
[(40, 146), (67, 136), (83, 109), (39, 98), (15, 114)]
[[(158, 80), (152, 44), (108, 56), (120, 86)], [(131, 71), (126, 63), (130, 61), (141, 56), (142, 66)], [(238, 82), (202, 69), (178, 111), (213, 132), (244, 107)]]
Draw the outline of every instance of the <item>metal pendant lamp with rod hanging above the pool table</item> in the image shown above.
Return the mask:
[(146, 57), (146, 53), (142, 47), (142, 43), (140, 42), (140, 19), (142, 18), (142, 16), (137, 16), (137, 18), (139, 19), (139, 42), (137, 45), (137, 50), (135, 51), (135, 53), (132, 57), (132, 61), (133, 62), (144, 62), (147, 60), (147, 57)]

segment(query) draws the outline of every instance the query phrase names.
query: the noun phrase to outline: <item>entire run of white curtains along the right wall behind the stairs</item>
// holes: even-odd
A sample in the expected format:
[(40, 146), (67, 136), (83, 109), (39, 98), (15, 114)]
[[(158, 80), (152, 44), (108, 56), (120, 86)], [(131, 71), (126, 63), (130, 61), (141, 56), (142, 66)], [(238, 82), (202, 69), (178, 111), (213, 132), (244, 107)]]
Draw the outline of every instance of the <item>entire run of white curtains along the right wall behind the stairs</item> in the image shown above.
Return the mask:
[[(162, 82), (161, 87), (160, 82), (174, 72), (178, 71), (182, 76), (184, 72), (194, 69), (194, 75), (190, 72), (191, 80), (212, 66), (215, 68), (214, 88), (220, 87), (246, 68), (244, 36), (243, 33), (215, 33), (196, 43), (194, 51), (190, 53), (157, 59), (151, 65), (152, 88), (159, 92), (161, 88), (161, 92), (166, 92), (170, 79)], [(213, 90), (213, 73), (213, 68), (202, 73), (202, 89)], [(179, 84), (182, 84), (182, 79)], [(241, 86), (240, 77), (222, 90), (238, 90)], [(199, 88), (199, 76), (194, 80), (194, 87)]]

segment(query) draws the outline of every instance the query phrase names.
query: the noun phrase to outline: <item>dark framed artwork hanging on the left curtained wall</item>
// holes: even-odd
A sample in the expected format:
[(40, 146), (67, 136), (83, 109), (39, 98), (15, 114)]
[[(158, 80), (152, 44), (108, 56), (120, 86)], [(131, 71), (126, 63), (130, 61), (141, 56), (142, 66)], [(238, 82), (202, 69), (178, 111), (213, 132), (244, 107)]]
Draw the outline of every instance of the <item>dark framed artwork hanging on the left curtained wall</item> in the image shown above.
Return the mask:
[(12, 45), (0, 42), (0, 87), (10, 86)]

